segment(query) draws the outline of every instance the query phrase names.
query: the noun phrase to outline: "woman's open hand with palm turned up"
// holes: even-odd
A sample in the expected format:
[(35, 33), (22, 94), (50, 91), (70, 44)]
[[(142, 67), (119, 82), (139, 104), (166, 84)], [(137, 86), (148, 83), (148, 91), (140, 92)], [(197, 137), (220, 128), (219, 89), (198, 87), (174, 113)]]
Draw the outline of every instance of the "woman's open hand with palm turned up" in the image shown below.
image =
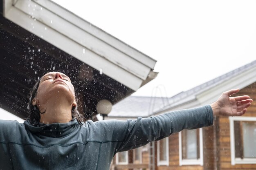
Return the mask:
[(220, 98), (211, 104), (215, 116), (241, 116), (245, 114), (252, 99), (249, 96), (230, 97), (238, 93), (239, 89), (233, 89), (222, 93)]

